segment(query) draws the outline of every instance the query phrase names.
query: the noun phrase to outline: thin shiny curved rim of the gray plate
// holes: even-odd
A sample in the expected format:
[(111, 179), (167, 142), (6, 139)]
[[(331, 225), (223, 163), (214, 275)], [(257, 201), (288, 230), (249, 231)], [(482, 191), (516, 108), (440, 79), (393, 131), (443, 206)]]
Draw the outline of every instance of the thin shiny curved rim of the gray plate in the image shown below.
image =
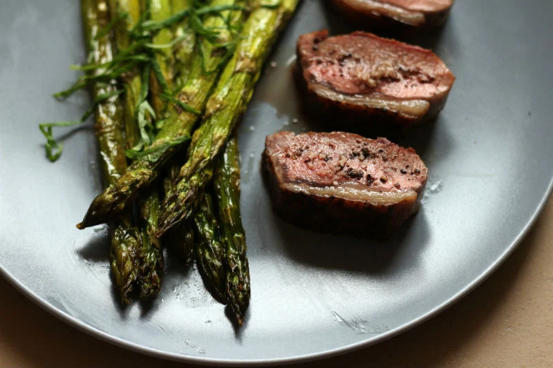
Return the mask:
[(144, 347), (142, 345), (136, 344), (135, 342), (130, 342), (128, 340), (124, 340), (122, 338), (118, 338), (115, 336), (111, 336), (109, 333), (106, 333), (104, 331), (100, 331), (100, 329), (97, 329), (91, 325), (86, 324), (82, 320), (79, 320), (73, 316), (71, 316), (69, 313), (66, 313), (65, 311), (62, 311), (55, 307), (53, 304), (48, 302), (47, 300), (44, 300), (40, 296), (38, 296), (34, 291), (30, 290), (26, 285), (19, 282), (15, 276), (10, 274), (0, 263), (0, 275), (3, 276), (10, 284), (12, 284), (15, 289), (20, 291), (24, 294), (27, 298), (32, 300), (32, 302), (35, 302), (39, 307), (47, 311), (48, 313), (52, 314), (53, 316), (59, 318), (60, 320), (66, 322), (68, 325), (71, 325), (73, 327), (76, 327), (80, 331), (83, 331), (84, 333), (87, 333), (90, 336), (93, 336), (95, 338), (100, 338), (100, 340), (104, 340), (105, 342), (109, 342), (112, 345), (122, 347), (124, 349), (128, 349), (131, 351), (135, 351), (140, 354), (146, 354), (148, 356), (153, 356), (156, 358), (163, 358), (167, 360), (173, 360), (176, 362), (187, 362), (187, 363), (195, 363), (200, 365), (225, 365), (225, 366), (270, 366), (270, 365), (280, 365), (280, 364), (292, 364), (292, 363), (299, 363), (299, 362), (309, 362), (313, 360), (319, 360), (323, 358), (330, 358), (332, 356), (339, 356), (341, 354), (346, 354), (351, 351), (356, 351), (359, 349), (362, 349), (364, 347), (369, 347), (371, 345), (375, 345), (379, 342), (382, 342), (384, 340), (388, 340), (388, 338), (393, 338), (394, 336), (400, 335), (400, 333), (404, 333), (406, 331), (409, 331), (413, 327), (416, 327), (422, 322), (425, 322), (432, 318), (433, 316), (437, 316), (439, 313), (442, 313), (442, 311), (445, 311), (451, 305), (455, 304), (467, 294), (469, 294), (471, 291), (476, 289), (482, 282), (484, 282), (489, 276), (500, 267), (507, 258), (509, 258), (509, 255), (513, 253), (513, 251), (516, 249), (518, 244), (522, 242), (522, 240), (525, 238), (527, 233), (532, 229), (534, 224), (536, 223), (536, 220), (538, 220), (539, 215), (541, 215), (543, 208), (545, 207), (545, 204), (547, 204), (547, 201), (550, 199), (550, 196), (553, 192), (553, 175), (550, 179), (550, 183), (547, 186), (545, 193), (541, 197), (540, 202), (538, 203), (538, 206), (536, 206), (536, 209), (534, 209), (534, 212), (532, 215), (530, 215), (529, 219), (526, 221), (526, 224), (523, 226), (523, 229), (516, 235), (514, 240), (507, 246), (505, 251), (494, 261), (492, 262), (485, 271), (480, 273), (477, 278), (475, 278), (472, 282), (469, 282), (467, 286), (465, 286), (463, 289), (460, 289), (457, 293), (455, 293), (451, 298), (448, 300), (442, 302), (442, 304), (439, 304), (438, 306), (434, 307), (430, 311), (427, 311), (427, 313), (422, 314), (422, 316), (419, 316), (418, 318), (415, 318), (409, 322), (404, 323), (403, 325), (400, 325), (398, 327), (395, 327), (395, 329), (391, 329), (389, 331), (386, 331), (384, 333), (380, 333), (377, 336), (374, 336), (373, 338), (367, 338), (366, 340), (355, 342), (353, 344), (344, 345), (342, 347), (337, 347), (335, 349), (329, 349), (326, 351), (319, 351), (317, 353), (311, 353), (311, 354), (303, 354), (298, 356), (289, 356), (286, 358), (267, 358), (267, 359), (252, 359), (252, 360), (241, 360), (241, 359), (221, 359), (221, 358), (202, 358), (197, 356), (187, 356), (185, 354), (176, 354), (176, 353), (170, 353), (168, 351), (162, 351), (160, 349), (153, 349), (151, 347)]

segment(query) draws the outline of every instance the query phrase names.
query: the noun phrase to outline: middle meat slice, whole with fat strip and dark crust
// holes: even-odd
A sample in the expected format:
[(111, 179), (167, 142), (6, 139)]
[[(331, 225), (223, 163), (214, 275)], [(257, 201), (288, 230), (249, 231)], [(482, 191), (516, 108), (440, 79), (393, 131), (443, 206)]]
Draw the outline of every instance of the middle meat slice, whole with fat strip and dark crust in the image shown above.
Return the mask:
[(442, 110), (455, 81), (431, 50), (366, 32), (308, 33), (297, 54), (314, 110), (341, 126), (420, 123)]

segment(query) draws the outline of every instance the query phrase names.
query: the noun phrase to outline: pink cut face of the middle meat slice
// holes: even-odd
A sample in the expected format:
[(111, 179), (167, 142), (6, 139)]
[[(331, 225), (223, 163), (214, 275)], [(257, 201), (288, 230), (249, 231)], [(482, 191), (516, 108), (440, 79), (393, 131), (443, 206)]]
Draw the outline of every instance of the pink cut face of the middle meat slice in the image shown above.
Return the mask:
[(429, 99), (448, 90), (442, 78), (449, 70), (433, 53), (376, 37), (331, 37), (313, 46), (302, 62), (310, 82), (349, 95)]

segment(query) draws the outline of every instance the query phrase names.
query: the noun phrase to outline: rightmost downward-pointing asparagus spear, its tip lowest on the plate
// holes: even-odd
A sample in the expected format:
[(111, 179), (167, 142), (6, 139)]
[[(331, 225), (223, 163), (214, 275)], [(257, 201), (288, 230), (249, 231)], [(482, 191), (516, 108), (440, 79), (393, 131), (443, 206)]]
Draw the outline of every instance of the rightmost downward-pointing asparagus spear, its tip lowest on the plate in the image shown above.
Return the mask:
[(250, 304), (250, 265), (246, 257), (246, 235), (240, 216), (240, 164), (238, 144), (229, 139), (218, 159), (214, 179), (219, 218), (227, 253), (227, 298), (234, 318), (241, 326)]

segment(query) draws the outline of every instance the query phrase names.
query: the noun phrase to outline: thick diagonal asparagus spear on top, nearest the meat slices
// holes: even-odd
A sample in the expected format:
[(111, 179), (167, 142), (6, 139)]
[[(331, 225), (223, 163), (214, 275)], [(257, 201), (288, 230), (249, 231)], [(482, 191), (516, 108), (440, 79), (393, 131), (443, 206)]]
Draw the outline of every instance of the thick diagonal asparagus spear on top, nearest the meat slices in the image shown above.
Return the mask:
[(279, 6), (256, 8), (247, 19), (241, 33), (243, 39), (209, 97), (200, 128), (194, 132), (189, 159), (180, 169), (178, 184), (162, 202), (158, 236), (194, 212), (196, 196), (211, 179), (205, 168), (225, 146), (229, 133), (247, 107), (270, 46), (298, 1), (282, 0)]

